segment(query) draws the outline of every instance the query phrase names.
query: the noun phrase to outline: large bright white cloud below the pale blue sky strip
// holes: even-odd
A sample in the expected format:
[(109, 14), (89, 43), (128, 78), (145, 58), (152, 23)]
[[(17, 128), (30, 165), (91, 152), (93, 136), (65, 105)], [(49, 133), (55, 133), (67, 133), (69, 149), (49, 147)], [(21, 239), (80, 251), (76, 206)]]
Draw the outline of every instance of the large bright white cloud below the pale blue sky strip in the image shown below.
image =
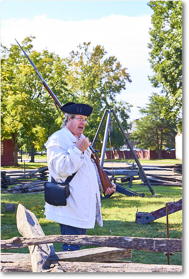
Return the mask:
[[(150, 22), (150, 15), (111, 15), (99, 20), (67, 22), (40, 15), (33, 19), (2, 21), (1, 41), (9, 47), (10, 43), (15, 43), (14, 38), (21, 43), (26, 36), (35, 36), (33, 45), (36, 51), (47, 48), (61, 57), (68, 56), (72, 50), (76, 51), (79, 43), (91, 42), (92, 46), (104, 46), (108, 56), (114, 55), (122, 67), (128, 68), (132, 83), (127, 84), (119, 99), (135, 104), (136, 114), (136, 106), (145, 104), (151, 92), (147, 78), (147, 75), (151, 75), (147, 60)], [(131, 118), (137, 117), (133, 115)]]

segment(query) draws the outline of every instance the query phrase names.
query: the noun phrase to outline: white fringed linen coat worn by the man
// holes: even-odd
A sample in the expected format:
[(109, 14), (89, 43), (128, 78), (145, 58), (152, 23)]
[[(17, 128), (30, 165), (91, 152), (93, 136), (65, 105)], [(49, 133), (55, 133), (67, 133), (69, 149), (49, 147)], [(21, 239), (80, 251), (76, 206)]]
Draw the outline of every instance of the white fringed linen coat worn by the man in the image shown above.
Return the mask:
[[(82, 134), (80, 138), (84, 137)], [(70, 195), (66, 206), (46, 202), (46, 219), (77, 228), (94, 228), (95, 220), (102, 226), (100, 189), (97, 167), (91, 161), (89, 147), (84, 154), (76, 147), (76, 137), (67, 127), (55, 132), (44, 144), (47, 148), (49, 179), (64, 182), (77, 171), (69, 182)]]

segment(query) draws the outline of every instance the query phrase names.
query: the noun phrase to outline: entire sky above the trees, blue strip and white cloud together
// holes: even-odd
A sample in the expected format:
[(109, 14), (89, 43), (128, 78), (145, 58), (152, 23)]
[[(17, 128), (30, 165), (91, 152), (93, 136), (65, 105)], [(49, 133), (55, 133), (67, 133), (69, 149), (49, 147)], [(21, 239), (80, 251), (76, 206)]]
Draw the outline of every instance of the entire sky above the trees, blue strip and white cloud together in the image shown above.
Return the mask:
[[(183, 14), (188, 1), (183, 1)], [(152, 70), (148, 61), (152, 9), (148, 1), (1, 1), (1, 42), (10, 47), (14, 38), (21, 43), (35, 36), (34, 50), (47, 48), (60, 57), (77, 51), (77, 46), (91, 42), (104, 46), (108, 56), (115, 56), (127, 68), (132, 83), (126, 84), (117, 100), (133, 105), (130, 120), (141, 117), (152, 92), (148, 80)], [(185, 32), (187, 26), (184, 27)], [(28, 53), (29, 54), (29, 53)]]

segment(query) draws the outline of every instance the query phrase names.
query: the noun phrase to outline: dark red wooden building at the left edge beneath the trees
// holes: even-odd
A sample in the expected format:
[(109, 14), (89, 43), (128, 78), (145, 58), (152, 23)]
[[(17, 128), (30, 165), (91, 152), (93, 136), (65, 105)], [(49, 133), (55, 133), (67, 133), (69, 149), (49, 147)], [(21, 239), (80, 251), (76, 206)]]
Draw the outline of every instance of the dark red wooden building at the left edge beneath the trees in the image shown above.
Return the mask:
[(14, 164), (14, 150), (11, 139), (1, 142), (1, 166), (12, 166)]

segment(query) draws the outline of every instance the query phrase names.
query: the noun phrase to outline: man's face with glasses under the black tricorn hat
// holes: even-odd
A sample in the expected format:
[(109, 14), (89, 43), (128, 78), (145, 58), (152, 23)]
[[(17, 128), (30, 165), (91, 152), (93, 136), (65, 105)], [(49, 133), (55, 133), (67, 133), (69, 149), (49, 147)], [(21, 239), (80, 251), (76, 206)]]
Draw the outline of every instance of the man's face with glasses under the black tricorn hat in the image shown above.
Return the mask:
[(79, 121), (78, 119), (87, 120), (87, 116), (76, 114), (74, 119), (71, 119), (71, 117), (68, 116), (68, 122), (66, 127), (68, 128), (68, 130), (70, 130), (70, 132), (72, 132), (73, 135), (77, 135), (78, 137), (80, 137), (80, 135), (84, 131), (86, 122)]

